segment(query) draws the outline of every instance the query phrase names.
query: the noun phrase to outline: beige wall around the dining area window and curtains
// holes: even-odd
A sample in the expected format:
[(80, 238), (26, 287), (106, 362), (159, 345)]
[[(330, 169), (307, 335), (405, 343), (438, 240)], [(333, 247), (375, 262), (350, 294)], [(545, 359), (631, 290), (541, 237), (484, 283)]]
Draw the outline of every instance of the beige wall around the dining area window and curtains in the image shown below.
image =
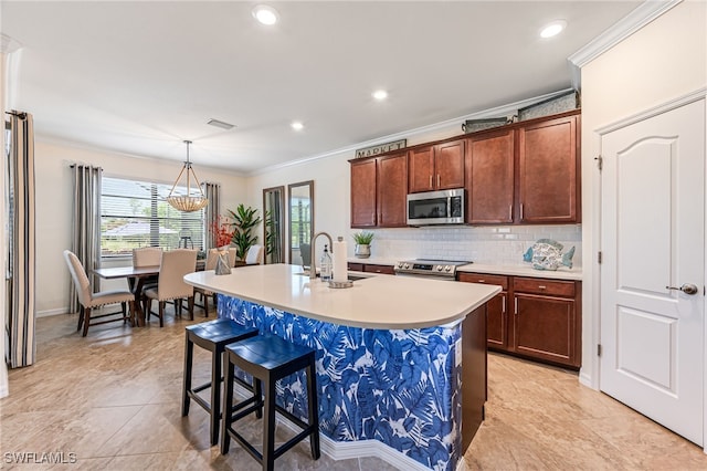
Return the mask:
[[(72, 178), (70, 165), (103, 167), (109, 177), (146, 178), (172, 184), (180, 163), (131, 157), (108, 151), (49, 144), (34, 147), (36, 186), (36, 311), (38, 315), (66, 312), (70, 275), (62, 252), (71, 249)], [(244, 177), (194, 165), (201, 181), (221, 184), (221, 211), (247, 198)], [(113, 287), (113, 286), (107, 286)]]

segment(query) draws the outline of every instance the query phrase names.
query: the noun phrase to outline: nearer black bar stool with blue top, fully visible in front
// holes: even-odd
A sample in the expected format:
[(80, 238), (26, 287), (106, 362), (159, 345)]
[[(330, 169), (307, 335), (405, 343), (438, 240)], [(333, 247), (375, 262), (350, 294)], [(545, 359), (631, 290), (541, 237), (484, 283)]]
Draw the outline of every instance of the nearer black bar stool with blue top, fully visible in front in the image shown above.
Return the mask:
[[(233, 401), (233, 371), (235, 366), (253, 376), (255, 390), (251, 398), (224, 410), (223, 422), (221, 423), (221, 454), (229, 452), (231, 438), (233, 438), (263, 465), (263, 470), (272, 471), (276, 458), (303, 439), (312, 436), (309, 439), (312, 457), (318, 460), (320, 456), (319, 411), (317, 406), (315, 350), (309, 347), (295, 345), (272, 334), (264, 334), (226, 345), (225, 357), (225, 404), (231, 407)], [(307, 409), (309, 423), (303, 422), (299, 418), (293, 416), (275, 402), (275, 383), (305, 368), (307, 375)], [(264, 398), (262, 396), (263, 389)], [(245, 408), (249, 405), (251, 406)], [(265, 408), (265, 420), (263, 421), (263, 453), (260, 453), (236, 432), (232, 426), (235, 421), (253, 411), (256, 412), (256, 417), (260, 417), (263, 407)], [(233, 414), (239, 410), (241, 411), (235, 415)], [(303, 429), (302, 432), (297, 433), (277, 449), (275, 449), (275, 411), (281, 412)]]

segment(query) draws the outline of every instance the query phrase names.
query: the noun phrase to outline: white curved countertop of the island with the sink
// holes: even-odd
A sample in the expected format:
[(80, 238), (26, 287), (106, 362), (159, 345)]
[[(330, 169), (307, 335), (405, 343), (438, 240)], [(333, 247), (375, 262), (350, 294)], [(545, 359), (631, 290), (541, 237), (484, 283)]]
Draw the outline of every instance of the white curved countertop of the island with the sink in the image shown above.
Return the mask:
[(500, 292), (500, 286), (409, 276), (362, 274), (352, 287), (310, 281), (298, 265), (239, 266), (231, 274), (189, 273), (194, 286), (293, 314), (365, 328), (422, 328), (464, 318)]

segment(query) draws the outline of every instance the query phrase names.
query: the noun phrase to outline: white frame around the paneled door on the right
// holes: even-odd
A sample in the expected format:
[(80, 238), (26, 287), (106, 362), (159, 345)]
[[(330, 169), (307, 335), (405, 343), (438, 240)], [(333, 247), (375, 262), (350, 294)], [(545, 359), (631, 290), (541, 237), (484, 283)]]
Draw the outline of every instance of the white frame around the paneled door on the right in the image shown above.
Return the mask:
[[(669, 112), (672, 109), (678, 108), (680, 106), (698, 102), (705, 101), (707, 105), (707, 87), (701, 87), (697, 91), (688, 93), (686, 95), (679, 96), (677, 98), (671, 100), (668, 102), (664, 102), (654, 107), (644, 109), (642, 112), (632, 114), (622, 119), (615, 121), (602, 127), (594, 129), (593, 138), (595, 142), (595, 148), (599, 149), (601, 155), (601, 139), (605, 134), (609, 134), (613, 130), (621, 129), (629, 125), (639, 123), (641, 121), (661, 115), (663, 113)], [(705, 106), (707, 109), (707, 106)], [(707, 112), (705, 116), (705, 123), (707, 126)], [(707, 146), (706, 146), (707, 147)], [(707, 151), (707, 149), (706, 149)], [(707, 158), (707, 157), (706, 157)], [(594, 241), (595, 252), (590, 254), (589, 260), (591, 260), (591, 303), (592, 303), (592, 322), (591, 322), (591, 336), (590, 336), (590, 345), (591, 352), (590, 358), (583, 358), (582, 364), (589, 365), (589, 377), (587, 375), (580, 375), (580, 380), (587, 386), (592, 387), (593, 389), (600, 390), (600, 368), (601, 362), (599, 360), (597, 354), (597, 346), (601, 344), (601, 265), (598, 261), (598, 253), (602, 250), (601, 248), (601, 199), (602, 199), (602, 187), (601, 187), (601, 171), (599, 170), (599, 166), (594, 165), (593, 167), (595, 171), (592, 171), (592, 208), (594, 210), (591, 214), (592, 228), (591, 228), (591, 238)], [(707, 187), (707, 166), (705, 166), (705, 185)], [(705, 191), (705, 221), (707, 221), (707, 189)], [(707, 239), (705, 240), (705, 253), (707, 253)], [(587, 259), (585, 259), (587, 260)], [(707, 280), (707, 260), (705, 260), (705, 280)], [(703, 296), (703, 303), (705, 313), (707, 313), (707, 296)], [(707, 315), (707, 314), (706, 314)], [(704, 417), (703, 417), (703, 436), (705, 437), (705, 444), (703, 446), (704, 451), (707, 453), (707, 320), (704, 322), (704, 332), (703, 338), (705, 341), (705, 347), (703, 348), (704, 356), (704, 380), (703, 380), (703, 407)]]

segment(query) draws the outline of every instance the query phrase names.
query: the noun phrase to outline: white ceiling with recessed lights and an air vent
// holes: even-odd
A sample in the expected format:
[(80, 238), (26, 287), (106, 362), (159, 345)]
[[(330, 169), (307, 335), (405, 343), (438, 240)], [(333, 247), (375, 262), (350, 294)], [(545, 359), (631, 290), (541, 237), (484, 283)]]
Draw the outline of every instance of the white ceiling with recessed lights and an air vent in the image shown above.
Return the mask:
[(7, 105), (38, 139), (175, 160), (191, 139), (196, 166), (250, 174), (568, 88), (567, 57), (641, 1), (267, 2), (273, 27), (256, 3), (2, 0)]

